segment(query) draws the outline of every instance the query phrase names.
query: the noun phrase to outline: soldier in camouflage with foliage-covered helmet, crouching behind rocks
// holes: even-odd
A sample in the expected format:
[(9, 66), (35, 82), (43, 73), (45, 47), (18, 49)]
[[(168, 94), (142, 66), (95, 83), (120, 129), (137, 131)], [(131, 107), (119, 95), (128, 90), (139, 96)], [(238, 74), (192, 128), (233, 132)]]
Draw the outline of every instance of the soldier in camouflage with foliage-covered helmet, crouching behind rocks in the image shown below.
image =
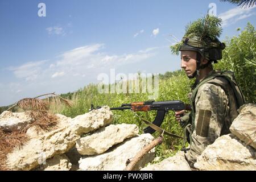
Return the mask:
[(190, 148), (183, 148), (185, 159), (193, 168), (196, 159), (218, 137), (230, 133), (229, 127), (237, 117), (237, 109), (244, 103), (231, 72), (217, 72), (212, 63), (222, 59), (225, 44), (218, 40), (221, 19), (206, 15), (187, 26), (180, 43), (171, 46), (181, 52), (181, 68), (188, 78), (196, 78), (190, 97), (192, 111), (176, 112), (184, 128)]

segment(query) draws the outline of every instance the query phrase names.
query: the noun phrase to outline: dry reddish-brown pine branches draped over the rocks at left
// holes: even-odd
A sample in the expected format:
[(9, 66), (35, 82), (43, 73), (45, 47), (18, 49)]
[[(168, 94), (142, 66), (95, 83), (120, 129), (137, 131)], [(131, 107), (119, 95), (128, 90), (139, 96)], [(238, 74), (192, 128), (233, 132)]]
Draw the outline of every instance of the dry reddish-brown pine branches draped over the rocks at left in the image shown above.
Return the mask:
[[(53, 95), (51, 98), (48, 97), (48, 101), (39, 99), (39, 97), (48, 95)], [(7, 109), (11, 110), (13, 107), (19, 106), (26, 114), (30, 115), (32, 122), (13, 132), (0, 130), (0, 170), (8, 170), (6, 166), (7, 154), (12, 152), (14, 148), (20, 148), (28, 142), (29, 138), (26, 133), (30, 127), (35, 127), (35, 130), (39, 132), (52, 130), (57, 125), (56, 115), (48, 112), (49, 104), (53, 103), (59, 106), (61, 102), (67, 106), (73, 105), (72, 101), (57, 96), (55, 93), (49, 93), (35, 98), (23, 98)]]

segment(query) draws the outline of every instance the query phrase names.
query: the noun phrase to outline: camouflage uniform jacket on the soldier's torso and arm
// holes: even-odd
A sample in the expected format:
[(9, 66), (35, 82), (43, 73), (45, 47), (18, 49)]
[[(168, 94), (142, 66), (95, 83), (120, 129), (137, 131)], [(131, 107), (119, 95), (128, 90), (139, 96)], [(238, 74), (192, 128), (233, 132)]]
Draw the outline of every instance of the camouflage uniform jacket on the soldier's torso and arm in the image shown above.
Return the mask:
[[(210, 72), (205, 78), (213, 73), (215, 71)], [(216, 84), (218, 82), (225, 85), (225, 88)], [(190, 150), (185, 157), (193, 166), (196, 158), (209, 144), (212, 144), (221, 135), (230, 133), (229, 127), (238, 115), (238, 105), (232, 86), (224, 77), (214, 78), (199, 86), (195, 103), (191, 104), (195, 105), (195, 119), (191, 121)]]

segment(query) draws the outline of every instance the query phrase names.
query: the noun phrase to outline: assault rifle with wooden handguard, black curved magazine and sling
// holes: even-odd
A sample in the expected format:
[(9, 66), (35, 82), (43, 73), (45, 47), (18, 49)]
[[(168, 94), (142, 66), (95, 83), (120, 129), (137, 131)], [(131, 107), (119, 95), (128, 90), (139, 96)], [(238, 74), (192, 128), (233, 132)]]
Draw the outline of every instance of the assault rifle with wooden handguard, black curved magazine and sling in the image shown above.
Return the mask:
[[(97, 107), (96, 109), (99, 109), (101, 107)], [(93, 105), (91, 105), (91, 109), (95, 109)], [(126, 110), (130, 109), (132, 111), (150, 111), (150, 110), (156, 110), (157, 114), (154, 119), (154, 121), (148, 122), (144, 119), (142, 119), (144, 122), (149, 125), (146, 127), (143, 131), (144, 133), (154, 133), (155, 130), (162, 131), (165, 134), (171, 135), (172, 137), (179, 137), (174, 134), (167, 133), (166, 131), (162, 130), (160, 126), (162, 125), (162, 122), (164, 120), (164, 116), (169, 110), (191, 110), (191, 106), (188, 104), (184, 104), (182, 101), (160, 101), (155, 102), (154, 100), (149, 100), (145, 102), (132, 102), (131, 104), (122, 104), (121, 107), (111, 107), (110, 110)], [(137, 115), (138, 116), (138, 115)], [(181, 137), (179, 137), (181, 138)]]

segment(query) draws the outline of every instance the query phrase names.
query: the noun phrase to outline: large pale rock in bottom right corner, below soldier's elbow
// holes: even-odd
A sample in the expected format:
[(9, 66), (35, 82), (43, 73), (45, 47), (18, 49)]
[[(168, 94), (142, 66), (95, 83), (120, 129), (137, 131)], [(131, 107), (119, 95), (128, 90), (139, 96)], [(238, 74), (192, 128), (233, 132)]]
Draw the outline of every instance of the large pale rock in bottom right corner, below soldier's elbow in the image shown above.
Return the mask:
[(233, 134), (223, 135), (203, 151), (194, 166), (200, 170), (255, 171), (255, 152)]

